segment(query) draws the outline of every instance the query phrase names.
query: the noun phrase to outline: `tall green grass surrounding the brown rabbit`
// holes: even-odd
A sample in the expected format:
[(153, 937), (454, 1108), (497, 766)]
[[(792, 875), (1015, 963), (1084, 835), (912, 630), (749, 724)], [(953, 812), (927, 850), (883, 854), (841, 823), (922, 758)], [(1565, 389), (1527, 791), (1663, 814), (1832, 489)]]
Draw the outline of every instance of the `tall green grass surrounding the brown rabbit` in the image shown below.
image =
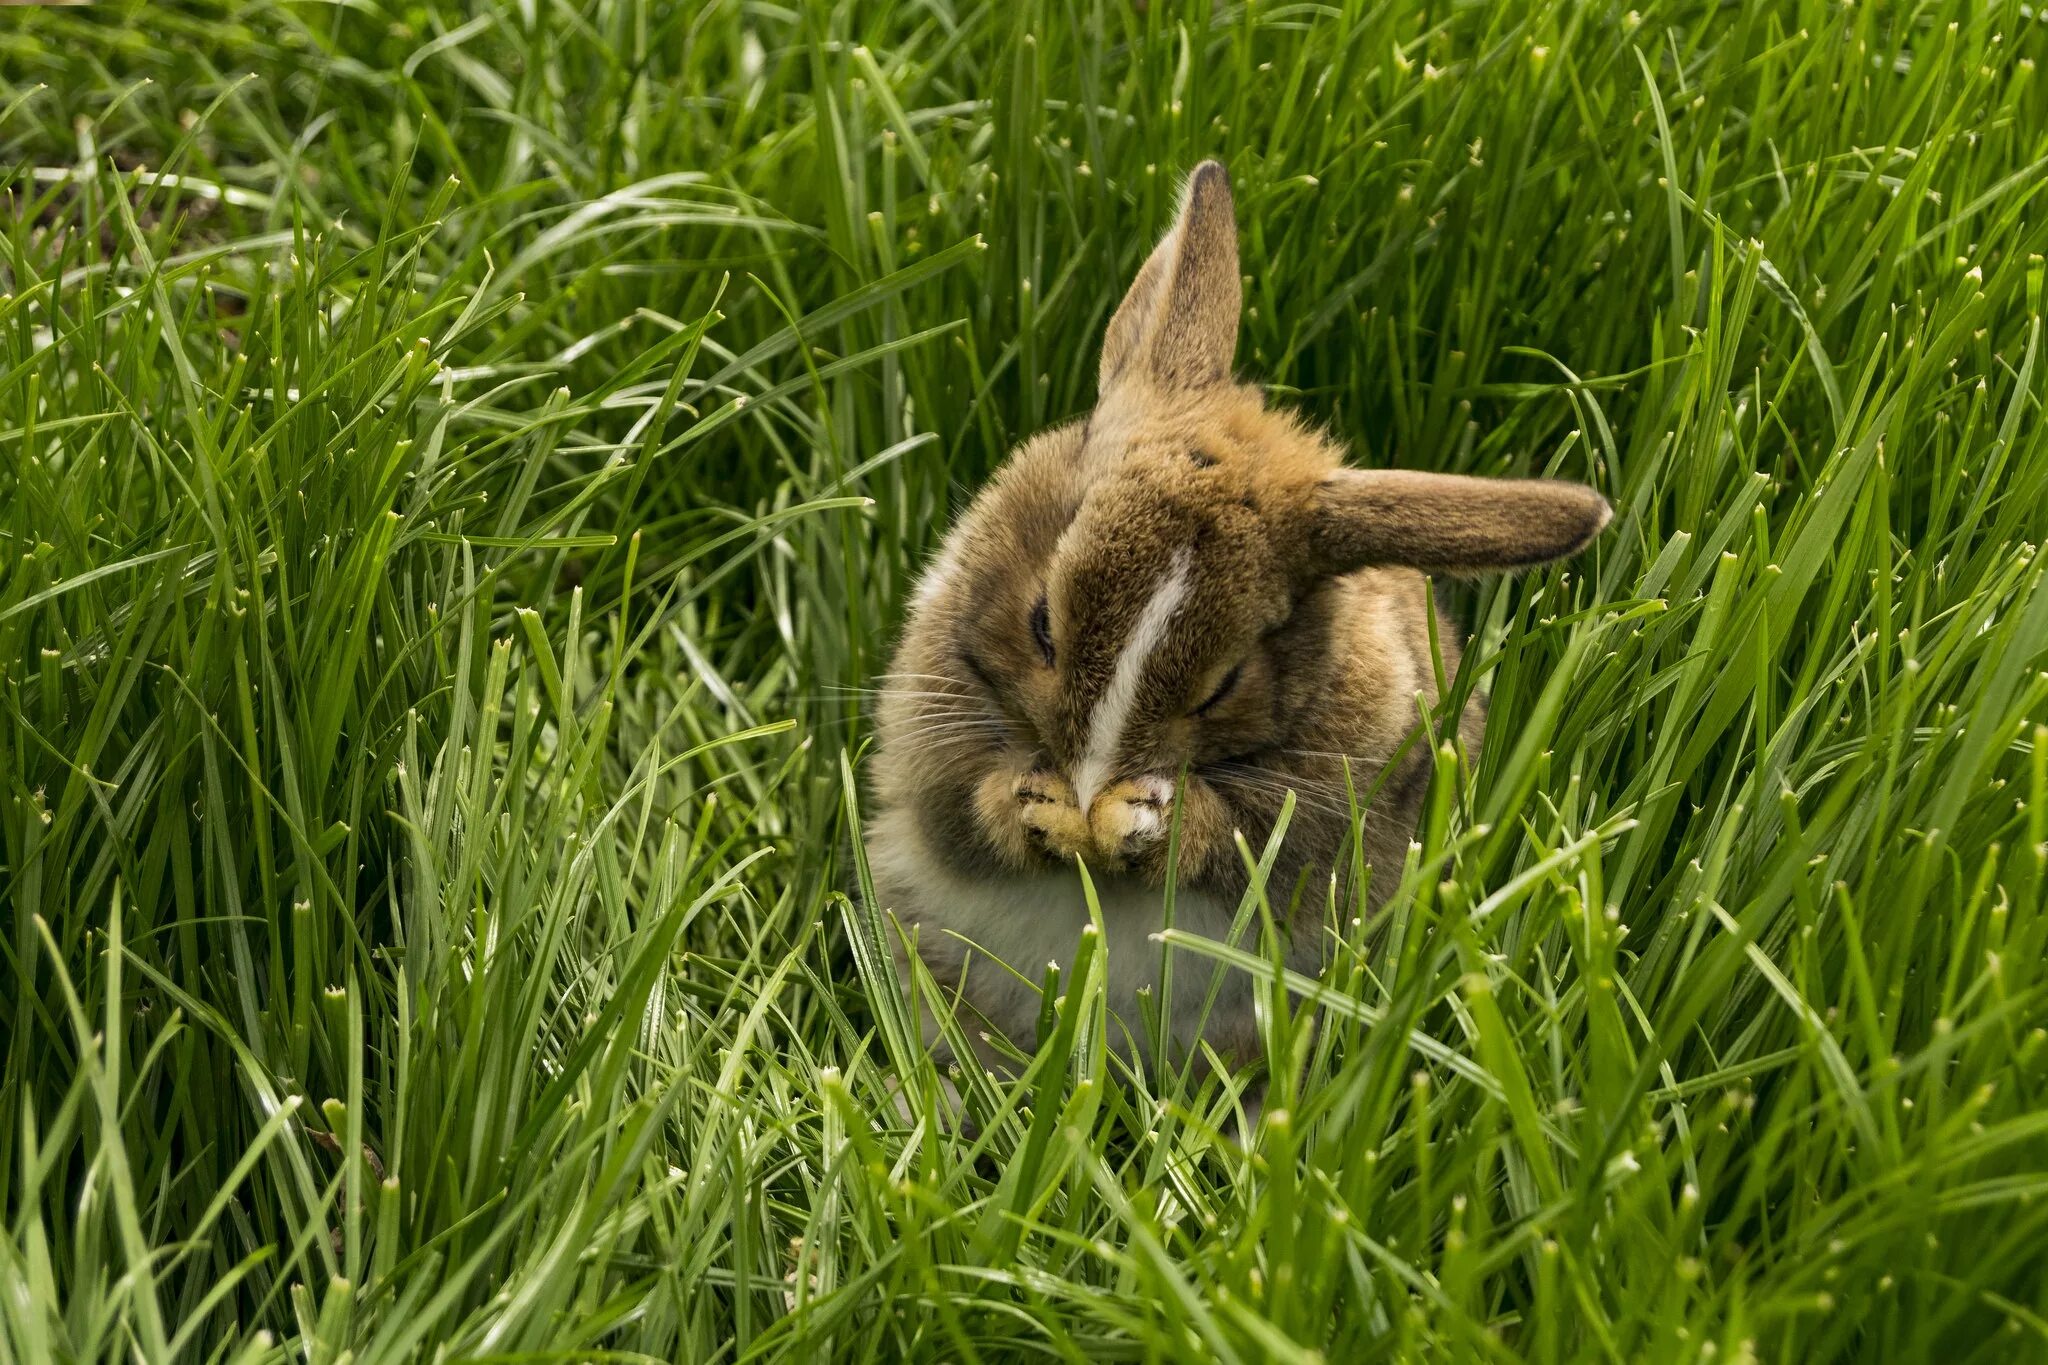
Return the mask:
[[(2048, 1359), (2048, 35), (1638, 4), (6, 10), (0, 1359)], [(1204, 156), (1618, 518), (1255, 1152), (1085, 960), (907, 1124), (860, 686)]]

